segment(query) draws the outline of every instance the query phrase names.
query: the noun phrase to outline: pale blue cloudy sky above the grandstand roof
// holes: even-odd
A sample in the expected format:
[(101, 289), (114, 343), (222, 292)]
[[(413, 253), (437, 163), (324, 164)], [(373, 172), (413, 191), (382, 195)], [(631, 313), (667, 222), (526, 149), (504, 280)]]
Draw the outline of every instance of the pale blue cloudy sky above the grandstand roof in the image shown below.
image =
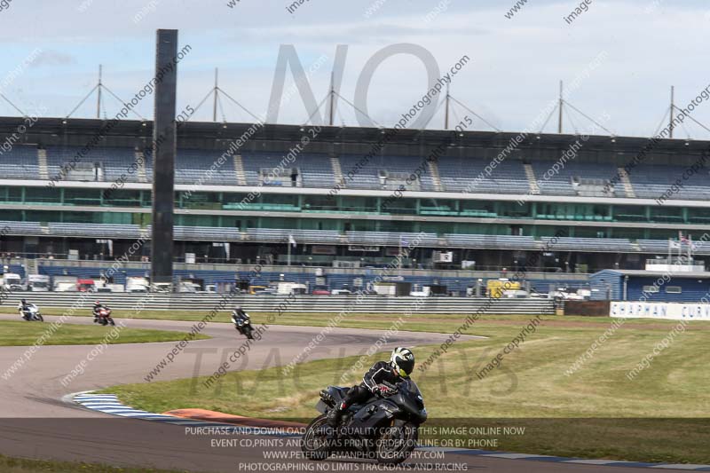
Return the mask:
[[(102, 64), (106, 87), (130, 99), (154, 75), (157, 28), (177, 29), (180, 44), (191, 47), (178, 65), (178, 111), (207, 96), (217, 67), (220, 88), (264, 117), (280, 51), (291, 46), (311, 70), (308, 86), (318, 102), (327, 96), (336, 47), (347, 46), (335, 116), (345, 126), (359, 124), (347, 102), (356, 101), (367, 62), (401, 43), (426, 51), (441, 75), (469, 58), (450, 84), (463, 104), (454, 102), (452, 122), (469, 115), (469, 130), (493, 130), (486, 122), (497, 130), (540, 130), (536, 118), (563, 81), (567, 102), (605, 129), (566, 106), (565, 132), (650, 136), (667, 113), (671, 85), (676, 105), (684, 106), (710, 84), (706, 1), (587, 0), (572, 20), (580, 2), (300, 1), (289, 7), (293, 0), (0, 0), (0, 91), (23, 112), (67, 116), (96, 85)], [(376, 124), (394, 125), (430, 89), (427, 67), (412, 54), (386, 57), (372, 75), (366, 105), (357, 105), (367, 106)], [(288, 70), (287, 91), (293, 83)], [(121, 104), (104, 96), (101, 114), (113, 116)], [(220, 101), (218, 121), (254, 121), (225, 95)], [(710, 128), (707, 102), (691, 116)], [(429, 129), (444, 128), (440, 104)], [(137, 107), (146, 118), (152, 110), (152, 99)], [(302, 124), (313, 112), (299, 93), (291, 94), (278, 122)], [(0, 100), (0, 115), (18, 114)], [(92, 95), (72, 117), (95, 115)], [(211, 120), (208, 99), (191, 121)], [(556, 125), (554, 115), (544, 130), (555, 132)], [(710, 139), (710, 131), (686, 121), (676, 137)]]

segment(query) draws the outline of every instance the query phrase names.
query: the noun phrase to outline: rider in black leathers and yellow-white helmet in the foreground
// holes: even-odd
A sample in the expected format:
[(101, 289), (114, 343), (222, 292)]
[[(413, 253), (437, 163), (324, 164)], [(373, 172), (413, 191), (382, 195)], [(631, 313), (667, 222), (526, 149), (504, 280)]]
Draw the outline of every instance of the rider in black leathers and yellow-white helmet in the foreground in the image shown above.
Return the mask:
[(375, 363), (362, 377), (362, 382), (348, 391), (340, 406), (328, 413), (327, 423), (331, 427), (337, 427), (348, 406), (365, 402), (375, 394), (387, 395), (390, 388), (383, 385), (382, 382), (397, 384), (409, 379), (409, 374), (412, 374), (412, 371), (414, 371), (414, 353), (408, 348), (395, 348), (392, 350), (389, 362), (378, 361)]

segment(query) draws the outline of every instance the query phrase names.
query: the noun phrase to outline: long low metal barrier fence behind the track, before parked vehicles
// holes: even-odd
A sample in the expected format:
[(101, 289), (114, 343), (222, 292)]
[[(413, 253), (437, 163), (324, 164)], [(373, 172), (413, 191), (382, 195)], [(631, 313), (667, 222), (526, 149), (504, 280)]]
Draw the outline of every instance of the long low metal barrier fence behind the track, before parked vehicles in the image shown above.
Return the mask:
[[(241, 305), (245, 311), (318, 312), (330, 313), (343, 310), (360, 313), (399, 313), (411, 311), (416, 297), (385, 296), (216, 296), (209, 294), (87, 294), (78, 292), (26, 292), (12, 293), (3, 301), (4, 306), (17, 306), (20, 298), (40, 307), (71, 307), (91, 309), (95, 300), (100, 300), (114, 309), (131, 309), (141, 306), (143, 310), (158, 311), (203, 311), (208, 312), (226, 299), (225, 310)], [(79, 301), (79, 303), (77, 303)], [(484, 309), (490, 314), (554, 314), (555, 302), (551, 299), (492, 299), (485, 297), (425, 297), (419, 302), (421, 313), (471, 313)], [(120, 314), (116, 314), (120, 317)]]

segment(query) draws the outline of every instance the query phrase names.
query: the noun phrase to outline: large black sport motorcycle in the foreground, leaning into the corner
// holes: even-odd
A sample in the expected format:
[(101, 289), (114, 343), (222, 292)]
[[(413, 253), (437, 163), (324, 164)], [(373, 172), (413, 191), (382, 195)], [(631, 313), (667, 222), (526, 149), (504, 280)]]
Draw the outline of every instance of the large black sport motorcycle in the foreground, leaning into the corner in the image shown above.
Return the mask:
[(390, 392), (348, 407), (335, 429), (327, 414), (343, 402), (349, 388), (328, 386), (320, 391), (316, 409), (322, 413), (306, 427), (301, 439), (305, 458), (321, 461), (333, 453), (355, 454), (378, 463), (396, 465), (409, 458), (427, 420), (422, 393), (412, 380), (396, 386), (384, 383)]

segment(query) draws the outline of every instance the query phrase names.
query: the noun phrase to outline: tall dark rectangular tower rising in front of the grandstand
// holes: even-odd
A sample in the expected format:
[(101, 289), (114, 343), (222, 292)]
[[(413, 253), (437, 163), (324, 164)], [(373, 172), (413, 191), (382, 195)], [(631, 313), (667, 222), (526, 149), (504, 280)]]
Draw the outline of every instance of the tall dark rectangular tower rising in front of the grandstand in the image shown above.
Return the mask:
[(153, 240), (151, 282), (172, 282), (177, 90), (177, 29), (159, 29), (155, 42)]

